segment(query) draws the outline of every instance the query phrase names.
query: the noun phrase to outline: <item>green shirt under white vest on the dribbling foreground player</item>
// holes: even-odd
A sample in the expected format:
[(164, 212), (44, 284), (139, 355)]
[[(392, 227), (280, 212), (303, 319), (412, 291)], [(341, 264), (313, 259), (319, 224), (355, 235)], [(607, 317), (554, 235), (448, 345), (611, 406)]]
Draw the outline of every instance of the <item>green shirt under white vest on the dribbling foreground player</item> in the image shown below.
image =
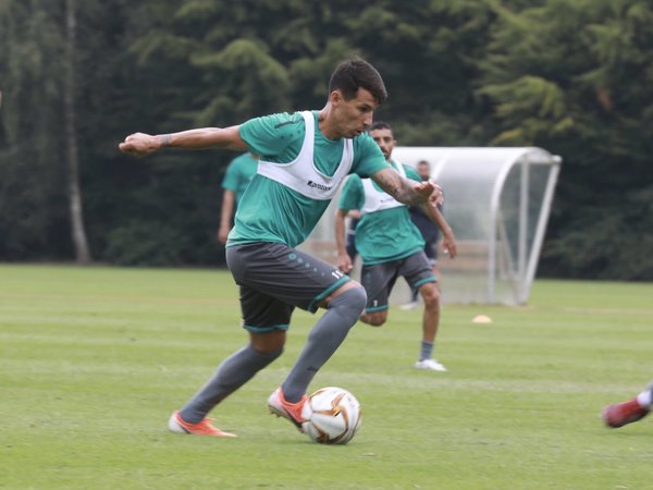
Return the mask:
[[(315, 118), (313, 164), (333, 175), (343, 157), (344, 139), (329, 139)], [(289, 163), (304, 144), (305, 122), (300, 112), (279, 113), (251, 119), (239, 127), (249, 151), (261, 161)], [(369, 176), (387, 168), (379, 146), (368, 134), (353, 138), (354, 158), (349, 173)], [(256, 174), (245, 191), (226, 246), (258, 242), (278, 242), (295, 247), (313, 230), (330, 200), (306, 197), (285, 185)]]

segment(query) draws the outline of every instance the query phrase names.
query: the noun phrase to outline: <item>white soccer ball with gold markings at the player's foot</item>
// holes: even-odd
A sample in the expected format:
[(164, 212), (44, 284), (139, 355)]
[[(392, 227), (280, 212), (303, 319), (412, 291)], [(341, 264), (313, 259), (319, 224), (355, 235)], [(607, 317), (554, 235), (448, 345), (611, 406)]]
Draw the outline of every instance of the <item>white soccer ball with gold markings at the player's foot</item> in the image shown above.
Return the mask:
[(360, 427), (360, 403), (347, 390), (322, 388), (304, 404), (304, 433), (320, 444), (346, 444)]

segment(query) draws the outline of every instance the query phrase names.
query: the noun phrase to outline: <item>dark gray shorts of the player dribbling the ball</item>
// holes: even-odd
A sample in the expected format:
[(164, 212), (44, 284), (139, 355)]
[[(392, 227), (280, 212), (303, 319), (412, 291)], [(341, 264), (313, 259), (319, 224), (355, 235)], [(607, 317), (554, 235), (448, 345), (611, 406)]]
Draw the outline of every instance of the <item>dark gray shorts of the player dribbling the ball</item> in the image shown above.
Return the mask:
[(282, 243), (227, 247), (226, 265), (241, 286), (243, 327), (255, 333), (287, 330), (295, 307), (315, 313), (349, 281), (336, 267)]

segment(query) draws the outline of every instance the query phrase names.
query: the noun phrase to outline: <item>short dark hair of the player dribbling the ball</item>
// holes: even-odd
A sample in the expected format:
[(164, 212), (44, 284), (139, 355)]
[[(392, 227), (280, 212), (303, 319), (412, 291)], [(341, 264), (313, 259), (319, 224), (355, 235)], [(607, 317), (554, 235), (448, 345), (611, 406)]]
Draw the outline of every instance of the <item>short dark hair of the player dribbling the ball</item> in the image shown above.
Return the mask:
[(354, 57), (335, 68), (329, 81), (329, 94), (341, 90), (345, 100), (350, 100), (356, 97), (359, 88), (372, 94), (379, 103), (387, 99), (385, 84), (377, 69), (362, 58)]

